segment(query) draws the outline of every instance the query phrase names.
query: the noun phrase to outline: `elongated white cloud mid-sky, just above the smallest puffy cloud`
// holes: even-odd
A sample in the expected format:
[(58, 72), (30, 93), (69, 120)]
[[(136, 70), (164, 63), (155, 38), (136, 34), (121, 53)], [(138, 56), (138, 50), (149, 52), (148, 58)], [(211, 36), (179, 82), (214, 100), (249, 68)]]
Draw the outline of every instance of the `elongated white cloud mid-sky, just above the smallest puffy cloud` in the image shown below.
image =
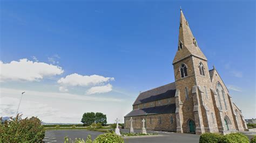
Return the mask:
[(104, 77), (100, 75), (79, 75), (79, 74), (71, 74), (66, 77), (62, 77), (58, 80), (58, 83), (66, 86), (81, 86), (87, 87), (92, 85), (104, 84), (109, 81), (113, 81), (113, 77)]

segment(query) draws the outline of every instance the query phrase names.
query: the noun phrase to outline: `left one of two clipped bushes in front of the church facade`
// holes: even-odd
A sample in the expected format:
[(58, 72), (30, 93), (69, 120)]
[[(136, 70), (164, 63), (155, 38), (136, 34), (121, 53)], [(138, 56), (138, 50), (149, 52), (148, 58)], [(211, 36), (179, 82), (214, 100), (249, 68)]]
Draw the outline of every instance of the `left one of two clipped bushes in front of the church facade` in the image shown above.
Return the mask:
[(219, 134), (219, 133), (203, 133), (200, 135), (200, 139), (199, 142), (216, 142), (218, 143), (221, 139), (221, 137), (223, 137), (223, 135)]

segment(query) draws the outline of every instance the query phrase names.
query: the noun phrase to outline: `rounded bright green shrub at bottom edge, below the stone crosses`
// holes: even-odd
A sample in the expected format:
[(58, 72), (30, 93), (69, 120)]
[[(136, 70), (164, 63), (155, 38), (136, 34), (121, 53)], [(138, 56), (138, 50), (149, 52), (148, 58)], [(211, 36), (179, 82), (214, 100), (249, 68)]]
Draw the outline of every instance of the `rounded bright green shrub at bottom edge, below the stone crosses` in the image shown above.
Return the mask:
[(95, 143), (124, 142), (124, 139), (115, 133), (104, 133), (104, 134), (98, 135), (98, 137), (93, 142)]

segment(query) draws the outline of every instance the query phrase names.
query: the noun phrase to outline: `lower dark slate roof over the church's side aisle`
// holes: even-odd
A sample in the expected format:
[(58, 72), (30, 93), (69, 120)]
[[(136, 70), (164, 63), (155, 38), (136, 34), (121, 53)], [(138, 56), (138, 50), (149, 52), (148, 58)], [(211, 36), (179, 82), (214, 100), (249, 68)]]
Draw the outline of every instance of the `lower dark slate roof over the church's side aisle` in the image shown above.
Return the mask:
[(163, 106), (155, 106), (151, 108), (135, 109), (128, 113), (125, 117), (175, 113), (175, 110), (175, 104), (168, 104)]

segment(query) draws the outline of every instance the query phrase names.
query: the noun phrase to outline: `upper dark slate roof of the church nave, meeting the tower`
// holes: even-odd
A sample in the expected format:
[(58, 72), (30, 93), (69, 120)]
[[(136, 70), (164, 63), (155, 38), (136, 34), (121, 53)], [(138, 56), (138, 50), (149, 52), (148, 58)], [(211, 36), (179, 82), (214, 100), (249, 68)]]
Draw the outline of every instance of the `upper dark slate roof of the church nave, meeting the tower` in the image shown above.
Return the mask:
[(176, 92), (175, 82), (169, 83), (161, 87), (154, 88), (154, 89), (147, 90), (145, 92), (140, 93), (136, 101), (133, 103), (133, 105), (174, 97), (175, 92)]

